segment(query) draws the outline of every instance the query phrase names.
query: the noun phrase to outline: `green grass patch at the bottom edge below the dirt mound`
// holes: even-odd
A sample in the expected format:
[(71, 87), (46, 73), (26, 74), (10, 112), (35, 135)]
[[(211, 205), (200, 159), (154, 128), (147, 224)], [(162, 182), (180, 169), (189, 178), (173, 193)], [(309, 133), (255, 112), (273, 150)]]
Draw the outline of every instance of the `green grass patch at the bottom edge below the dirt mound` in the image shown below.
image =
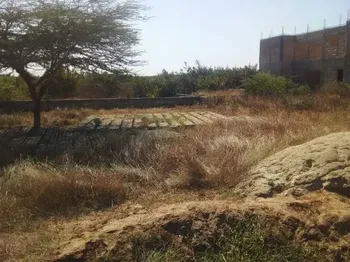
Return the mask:
[[(133, 261), (321, 261), (317, 252), (293, 242), (282, 232), (273, 232), (269, 224), (254, 220), (234, 220), (222, 228), (202, 250), (191, 246), (191, 240), (171, 242), (164, 237), (147, 237), (134, 243)], [(324, 260), (324, 257), (322, 258)]]

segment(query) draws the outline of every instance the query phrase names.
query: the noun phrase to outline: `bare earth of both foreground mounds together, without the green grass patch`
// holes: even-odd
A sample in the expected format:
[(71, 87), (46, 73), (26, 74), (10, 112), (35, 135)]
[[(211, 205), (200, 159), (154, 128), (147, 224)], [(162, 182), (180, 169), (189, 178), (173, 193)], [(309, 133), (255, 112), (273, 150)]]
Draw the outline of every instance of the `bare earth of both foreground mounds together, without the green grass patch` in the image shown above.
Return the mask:
[[(252, 217), (269, 221), (266, 227), (275, 227), (294, 243), (315, 248), (325, 261), (350, 261), (350, 198), (346, 193), (349, 142), (350, 133), (337, 133), (266, 158), (238, 185), (247, 198), (235, 195), (234, 189), (225, 194), (202, 189), (197, 196), (193, 190), (188, 190), (188, 195), (174, 191), (163, 198), (156, 195), (152, 201), (133, 200), (108, 211), (48, 223), (54, 239), (46, 243), (45, 254), (29, 261), (133, 261), (135, 239), (145, 235), (177, 243), (193, 253), (215, 247), (218, 235), (233, 220), (245, 223)], [(311, 186), (302, 183), (303, 194), (287, 194), (299, 185), (293, 182), (298, 177), (312, 177)], [(323, 181), (324, 177), (329, 180)], [(275, 183), (271, 183), (273, 179)], [(285, 182), (279, 185), (276, 181)], [(273, 188), (272, 194), (260, 198), (251, 194), (251, 188), (266, 185)], [(151, 194), (151, 190), (147, 192)], [(146, 244), (152, 246), (152, 240)]]

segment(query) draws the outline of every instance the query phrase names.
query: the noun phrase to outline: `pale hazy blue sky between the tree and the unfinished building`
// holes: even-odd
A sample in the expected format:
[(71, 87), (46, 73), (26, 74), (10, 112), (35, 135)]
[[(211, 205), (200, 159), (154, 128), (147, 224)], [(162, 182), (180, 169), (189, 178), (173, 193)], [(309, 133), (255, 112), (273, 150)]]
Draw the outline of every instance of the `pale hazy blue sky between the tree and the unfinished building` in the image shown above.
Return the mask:
[(260, 35), (323, 28), (347, 20), (350, 0), (144, 0), (153, 18), (140, 26), (141, 74), (179, 70), (186, 61), (210, 66), (257, 64)]

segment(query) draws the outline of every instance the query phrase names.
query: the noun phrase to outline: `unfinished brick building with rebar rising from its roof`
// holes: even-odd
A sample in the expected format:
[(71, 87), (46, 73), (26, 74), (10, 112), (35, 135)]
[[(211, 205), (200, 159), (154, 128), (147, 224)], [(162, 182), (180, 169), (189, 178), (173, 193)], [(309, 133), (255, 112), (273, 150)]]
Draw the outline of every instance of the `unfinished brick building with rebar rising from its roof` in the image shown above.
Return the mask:
[(260, 70), (318, 85), (350, 83), (350, 21), (344, 26), (260, 42)]

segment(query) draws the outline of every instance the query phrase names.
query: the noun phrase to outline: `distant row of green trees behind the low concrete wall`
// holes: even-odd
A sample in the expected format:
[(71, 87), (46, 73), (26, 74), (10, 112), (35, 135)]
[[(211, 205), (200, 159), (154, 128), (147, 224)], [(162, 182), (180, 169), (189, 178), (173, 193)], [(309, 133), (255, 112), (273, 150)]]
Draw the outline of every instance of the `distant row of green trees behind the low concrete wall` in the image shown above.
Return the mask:
[[(163, 70), (155, 76), (131, 74), (78, 74), (58, 71), (43, 83), (45, 98), (171, 97), (199, 90), (225, 90), (242, 86), (242, 81), (257, 73), (257, 66), (207, 67), (199, 62), (185, 64), (178, 72)], [(10, 75), (0, 76), (0, 100), (30, 99), (24, 81)]]

